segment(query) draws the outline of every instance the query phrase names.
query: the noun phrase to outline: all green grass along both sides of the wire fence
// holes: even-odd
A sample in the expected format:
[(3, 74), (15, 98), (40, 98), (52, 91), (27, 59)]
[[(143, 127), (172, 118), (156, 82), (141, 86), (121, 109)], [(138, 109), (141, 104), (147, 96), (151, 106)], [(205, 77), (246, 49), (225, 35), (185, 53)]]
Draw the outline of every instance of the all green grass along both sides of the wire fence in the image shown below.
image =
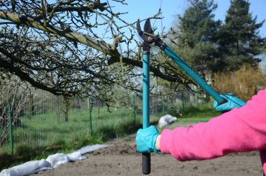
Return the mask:
[[(13, 131), (15, 154), (11, 156), (9, 148), (0, 149), (0, 170), (25, 161), (47, 158), (50, 154), (70, 153), (86, 145), (101, 144), (112, 138), (135, 133), (141, 128), (141, 114), (137, 114), (137, 121), (134, 123), (131, 109), (113, 109), (112, 113), (101, 109), (99, 118), (97, 111), (92, 111), (93, 133), (90, 134), (88, 114), (86, 109), (71, 110), (67, 122), (64, 121), (63, 114), (57, 119), (59, 116), (55, 112), (23, 116), (22, 127)], [(174, 111), (169, 111), (169, 114), (178, 115)], [(183, 116), (178, 116), (177, 122), (208, 121), (219, 115), (208, 104), (186, 107), (181, 114)], [(156, 124), (162, 115), (164, 114), (151, 115), (151, 122)]]

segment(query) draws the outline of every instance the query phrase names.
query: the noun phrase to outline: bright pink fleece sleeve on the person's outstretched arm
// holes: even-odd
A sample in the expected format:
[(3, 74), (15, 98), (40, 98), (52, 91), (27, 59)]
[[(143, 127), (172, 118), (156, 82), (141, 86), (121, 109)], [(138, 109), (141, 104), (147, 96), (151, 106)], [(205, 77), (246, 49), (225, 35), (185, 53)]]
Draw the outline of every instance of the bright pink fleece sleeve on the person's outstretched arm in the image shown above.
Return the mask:
[(163, 130), (160, 148), (163, 154), (172, 154), (179, 161), (266, 149), (266, 89), (254, 95), (246, 106), (207, 123)]

